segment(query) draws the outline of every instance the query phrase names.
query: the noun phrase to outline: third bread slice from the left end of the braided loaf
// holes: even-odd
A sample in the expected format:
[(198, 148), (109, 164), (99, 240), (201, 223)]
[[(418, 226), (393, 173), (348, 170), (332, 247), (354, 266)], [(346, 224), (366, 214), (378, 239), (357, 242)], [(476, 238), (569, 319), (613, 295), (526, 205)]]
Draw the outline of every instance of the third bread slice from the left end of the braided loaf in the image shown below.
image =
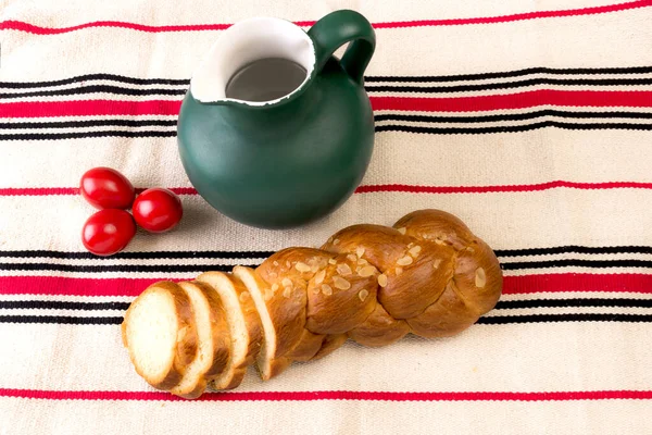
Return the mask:
[(251, 294), (242, 282), (222, 272), (206, 272), (197, 281), (213, 288), (224, 306), (230, 334), (230, 359), (211, 382), (215, 389), (231, 389), (240, 385), (247, 366), (253, 363), (261, 348), (263, 330)]

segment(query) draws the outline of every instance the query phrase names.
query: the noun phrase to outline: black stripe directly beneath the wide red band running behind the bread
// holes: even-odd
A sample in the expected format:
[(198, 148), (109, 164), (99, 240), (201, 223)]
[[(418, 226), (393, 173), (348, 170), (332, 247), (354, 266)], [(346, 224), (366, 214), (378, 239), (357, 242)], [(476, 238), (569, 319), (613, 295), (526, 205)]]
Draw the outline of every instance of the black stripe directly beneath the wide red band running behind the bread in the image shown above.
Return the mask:
[[(532, 309), (532, 308), (652, 308), (652, 299), (635, 298), (569, 298), (569, 299), (531, 299), (500, 300), (496, 310)], [(61, 300), (0, 300), (0, 309), (4, 310), (79, 310), (101, 311), (129, 308), (129, 302), (77, 302)]]

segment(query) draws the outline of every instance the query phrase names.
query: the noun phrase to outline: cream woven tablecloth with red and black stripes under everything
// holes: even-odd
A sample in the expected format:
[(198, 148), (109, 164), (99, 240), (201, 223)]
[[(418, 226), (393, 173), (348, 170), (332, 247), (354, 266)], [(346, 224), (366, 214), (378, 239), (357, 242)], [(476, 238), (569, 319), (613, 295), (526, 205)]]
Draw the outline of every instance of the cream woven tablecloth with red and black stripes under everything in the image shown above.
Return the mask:
[[(0, 433), (652, 432), (652, 2), (0, 1)], [(176, 114), (229, 23), (377, 29), (376, 148), (328, 219), (246, 227), (193, 191)], [(186, 216), (84, 251), (86, 170), (181, 194)], [(184, 401), (134, 372), (117, 324), (149, 283), (256, 264), (354, 223), (439, 208), (497, 249), (494, 311), (449, 339), (352, 343)]]

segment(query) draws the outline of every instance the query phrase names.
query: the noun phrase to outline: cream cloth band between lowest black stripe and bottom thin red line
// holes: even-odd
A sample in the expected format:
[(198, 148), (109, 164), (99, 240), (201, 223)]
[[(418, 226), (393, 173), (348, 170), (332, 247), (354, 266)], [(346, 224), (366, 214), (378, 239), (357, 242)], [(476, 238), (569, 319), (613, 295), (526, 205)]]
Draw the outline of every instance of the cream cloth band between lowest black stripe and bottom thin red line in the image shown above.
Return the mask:
[[(648, 389), (652, 347), (629, 340), (645, 343), (650, 328), (650, 323), (612, 322), (474, 325), (455, 337), (409, 336), (376, 349), (348, 341), (328, 358), (296, 363), (271, 382), (252, 369), (238, 390), (347, 390), (353, 385), (363, 391)], [(153, 390), (131, 366), (120, 325), (4, 323), (0, 334), (3, 347), (12, 349), (0, 353), (2, 386)], [(623, 336), (628, 339), (617, 339)], [(591, 370), (578, 374), (582, 362)], [(48, 376), (41, 375), (43, 364)]]

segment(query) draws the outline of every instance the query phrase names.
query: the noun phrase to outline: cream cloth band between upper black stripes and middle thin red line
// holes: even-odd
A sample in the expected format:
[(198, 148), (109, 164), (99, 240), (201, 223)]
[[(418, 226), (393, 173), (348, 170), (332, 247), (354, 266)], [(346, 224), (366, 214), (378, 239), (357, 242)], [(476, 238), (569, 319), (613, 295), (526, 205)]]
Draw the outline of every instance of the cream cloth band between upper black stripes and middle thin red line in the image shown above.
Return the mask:
[[(446, 136), (377, 133), (363, 184), (650, 183), (649, 137), (638, 130), (556, 128)], [(191, 187), (174, 137), (0, 141), (0, 153), (2, 187), (76, 187), (82, 174), (95, 166), (114, 167), (139, 187)]]

